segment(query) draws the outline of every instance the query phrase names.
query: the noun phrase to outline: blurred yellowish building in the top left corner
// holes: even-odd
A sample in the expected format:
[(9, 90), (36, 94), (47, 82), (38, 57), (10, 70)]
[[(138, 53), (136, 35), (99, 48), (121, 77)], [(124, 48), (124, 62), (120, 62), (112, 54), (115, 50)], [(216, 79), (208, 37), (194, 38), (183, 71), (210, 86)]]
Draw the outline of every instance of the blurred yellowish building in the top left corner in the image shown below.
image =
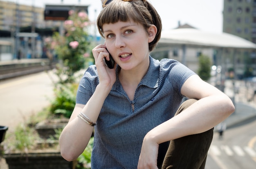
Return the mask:
[(58, 28), (61, 22), (44, 20), (44, 10), (32, 3), (29, 6), (0, 0), (0, 37), (13, 36), (17, 28), (19, 32), (38, 31), (40, 34), (47, 28)]

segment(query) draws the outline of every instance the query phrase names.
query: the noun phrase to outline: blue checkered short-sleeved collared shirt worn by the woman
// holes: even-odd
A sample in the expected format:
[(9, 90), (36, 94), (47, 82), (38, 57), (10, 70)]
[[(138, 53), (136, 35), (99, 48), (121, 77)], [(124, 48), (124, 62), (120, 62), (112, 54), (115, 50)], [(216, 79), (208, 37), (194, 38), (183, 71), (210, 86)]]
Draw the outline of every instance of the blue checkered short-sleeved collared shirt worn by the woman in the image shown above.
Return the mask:
[[(119, 69), (117, 66), (117, 74)], [(94, 128), (92, 169), (137, 169), (144, 136), (174, 116), (183, 98), (181, 87), (193, 74), (176, 60), (150, 57), (134, 100), (128, 98), (117, 76)], [(98, 84), (97, 69), (92, 65), (81, 79), (76, 103), (85, 105)]]

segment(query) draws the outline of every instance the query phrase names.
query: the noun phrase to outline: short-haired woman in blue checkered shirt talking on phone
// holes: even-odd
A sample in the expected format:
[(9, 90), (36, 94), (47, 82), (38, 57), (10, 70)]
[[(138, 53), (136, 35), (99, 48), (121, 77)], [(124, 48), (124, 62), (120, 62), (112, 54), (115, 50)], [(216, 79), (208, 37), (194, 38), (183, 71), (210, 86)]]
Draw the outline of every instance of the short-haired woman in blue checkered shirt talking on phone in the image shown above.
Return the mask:
[[(233, 103), (180, 62), (150, 57), (162, 23), (148, 1), (102, 1), (105, 43), (92, 50), (95, 65), (81, 79), (59, 140), (63, 158), (75, 160), (95, 130), (92, 169), (204, 168), (213, 127)], [(114, 69), (104, 62), (110, 54)]]

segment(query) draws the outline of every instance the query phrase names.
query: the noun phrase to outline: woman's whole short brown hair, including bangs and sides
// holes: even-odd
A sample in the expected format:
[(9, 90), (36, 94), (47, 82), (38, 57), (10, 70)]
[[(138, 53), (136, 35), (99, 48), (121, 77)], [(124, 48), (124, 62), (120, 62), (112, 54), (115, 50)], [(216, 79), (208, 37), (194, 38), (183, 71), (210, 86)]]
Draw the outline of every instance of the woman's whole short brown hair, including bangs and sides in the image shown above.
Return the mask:
[(103, 8), (97, 18), (97, 26), (99, 33), (103, 38), (103, 24), (116, 23), (116, 22), (134, 22), (143, 25), (145, 30), (154, 24), (157, 27), (157, 34), (155, 39), (148, 44), (149, 51), (155, 49), (157, 42), (161, 37), (162, 21), (155, 10), (155, 8), (146, 0), (113, 0), (106, 7)]

